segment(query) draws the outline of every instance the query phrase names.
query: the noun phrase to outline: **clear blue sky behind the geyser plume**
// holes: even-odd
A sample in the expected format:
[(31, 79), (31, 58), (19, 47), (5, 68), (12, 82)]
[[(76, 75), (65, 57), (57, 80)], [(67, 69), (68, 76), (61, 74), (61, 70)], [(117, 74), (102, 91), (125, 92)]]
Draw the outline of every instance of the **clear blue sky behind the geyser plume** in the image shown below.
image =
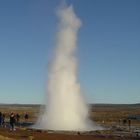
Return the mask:
[[(0, 1), (0, 103), (41, 104), (61, 0)], [(78, 82), (88, 103), (140, 103), (140, 1), (66, 0), (78, 32)]]

